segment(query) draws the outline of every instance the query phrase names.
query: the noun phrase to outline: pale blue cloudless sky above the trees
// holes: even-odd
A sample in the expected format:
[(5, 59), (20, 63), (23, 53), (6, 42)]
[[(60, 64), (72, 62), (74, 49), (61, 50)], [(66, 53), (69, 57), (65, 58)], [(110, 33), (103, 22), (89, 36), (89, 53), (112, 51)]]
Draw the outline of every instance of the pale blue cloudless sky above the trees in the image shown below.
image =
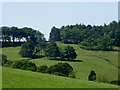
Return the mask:
[(118, 20), (117, 2), (3, 2), (1, 26), (31, 27), (48, 40), (53, 26), (103, 25)]

